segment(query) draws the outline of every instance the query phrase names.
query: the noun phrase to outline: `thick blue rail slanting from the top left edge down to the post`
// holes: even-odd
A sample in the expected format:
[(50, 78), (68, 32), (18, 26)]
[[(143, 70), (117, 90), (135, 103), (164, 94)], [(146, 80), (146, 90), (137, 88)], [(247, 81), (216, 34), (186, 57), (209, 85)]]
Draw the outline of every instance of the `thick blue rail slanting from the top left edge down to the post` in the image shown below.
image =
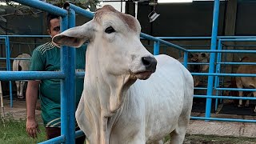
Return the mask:
[(62, 17), (67, 15), (66, 10), (59, 8), (58, 6), (51, 5), (50, 3), (47, 3), (47, 2), (42, 2), (39, 0), (12, 0), (12, 1), (18, 2), (22, 5), (34, 7), (38, 10), (44, 10), (51, 14), (56, 14)]

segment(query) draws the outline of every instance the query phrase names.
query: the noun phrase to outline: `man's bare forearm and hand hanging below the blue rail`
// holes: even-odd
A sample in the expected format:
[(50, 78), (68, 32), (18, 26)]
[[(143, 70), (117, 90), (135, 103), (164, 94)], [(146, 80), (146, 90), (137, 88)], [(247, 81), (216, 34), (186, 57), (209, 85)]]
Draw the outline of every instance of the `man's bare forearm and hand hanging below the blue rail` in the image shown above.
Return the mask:
[(37, 138), (37, 132), (40, 132), (35, 119), (39, 84), (40, 81), (29, 81), (26, 89), (26, 132), (32, 138)]

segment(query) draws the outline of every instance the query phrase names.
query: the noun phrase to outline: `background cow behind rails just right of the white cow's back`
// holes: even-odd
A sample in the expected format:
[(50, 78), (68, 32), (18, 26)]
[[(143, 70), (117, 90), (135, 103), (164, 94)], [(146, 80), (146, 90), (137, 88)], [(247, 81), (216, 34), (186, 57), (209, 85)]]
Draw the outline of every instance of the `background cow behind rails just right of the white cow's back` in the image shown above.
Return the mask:
[[(183, 56), (183, 54), (182, 54)], [(178, 58), (178, 62), (184, 62), (184, 58)], [(209, 54), (207, 53), (189, 53), (187, 62), (198, 62), (198, 63), (206, 63), (209, 62)], [(208, 70), (209, 65), (202, 64), (188, 64), (187, 69), (190, 70), (190, 73), (203, 73)], [(194, 75), (194, 87), (198, 86), (201, 82), (202, 76)]]

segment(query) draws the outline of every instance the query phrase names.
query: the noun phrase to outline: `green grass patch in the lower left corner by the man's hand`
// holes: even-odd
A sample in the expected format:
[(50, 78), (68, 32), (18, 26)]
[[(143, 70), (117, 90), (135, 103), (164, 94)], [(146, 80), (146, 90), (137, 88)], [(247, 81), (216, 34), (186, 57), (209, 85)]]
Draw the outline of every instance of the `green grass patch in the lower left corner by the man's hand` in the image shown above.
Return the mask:
[(37, 139), (30, 138), (26, 134), (26, 120), (14, 119), (11, 115), (5, 118), (5, 126), (0, 122), (0, 143), (1, 144), (32, 144), (46, 141), (45, 128), (42, 122), (39, 122), (41, 133)]

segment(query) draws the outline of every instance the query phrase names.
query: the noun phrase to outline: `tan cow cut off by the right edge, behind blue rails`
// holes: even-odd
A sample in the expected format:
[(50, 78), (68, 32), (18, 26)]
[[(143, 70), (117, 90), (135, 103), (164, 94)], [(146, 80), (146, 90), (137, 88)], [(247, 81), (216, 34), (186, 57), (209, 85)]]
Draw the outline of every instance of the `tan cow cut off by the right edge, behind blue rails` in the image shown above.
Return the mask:
[[(244, 57), (241, 62), (256, 62), (255, 59)], [(256, 74), (256, 66), (255, 65), (240, 65), (238, 66), (237, 74)], [(247, 89), (255, 89), (256, 88), (256, 77), (236, 77), (236, 85), (239, 89), (247, 88)], [(239, 91), (239, 97), (243, 96), (243, 91)], [(250, 95), (250, 93), (249, 93)], [(254, 97), (256, 97), (256, 91), (253, 92)], [(242, 106), (242, 99), (239, 99), (239, 107)], [(246, 100), (246, 106), (249, 106), (249, 100)], [(254, 109), (256, 112), (256, 106)]]

